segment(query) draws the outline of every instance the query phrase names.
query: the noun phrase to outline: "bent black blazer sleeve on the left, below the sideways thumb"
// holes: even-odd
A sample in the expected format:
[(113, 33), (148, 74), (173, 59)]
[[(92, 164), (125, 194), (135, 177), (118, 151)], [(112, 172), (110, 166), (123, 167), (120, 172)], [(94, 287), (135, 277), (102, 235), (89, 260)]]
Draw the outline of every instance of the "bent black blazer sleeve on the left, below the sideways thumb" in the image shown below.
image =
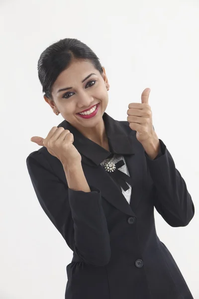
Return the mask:
[(41, 207), (71, 250), (87, 264), (107, 264), (110, 240), (100, 190), (91, 185), (91, 192), (70, 189), (42, 152), (30, 153), (26, 164)]

